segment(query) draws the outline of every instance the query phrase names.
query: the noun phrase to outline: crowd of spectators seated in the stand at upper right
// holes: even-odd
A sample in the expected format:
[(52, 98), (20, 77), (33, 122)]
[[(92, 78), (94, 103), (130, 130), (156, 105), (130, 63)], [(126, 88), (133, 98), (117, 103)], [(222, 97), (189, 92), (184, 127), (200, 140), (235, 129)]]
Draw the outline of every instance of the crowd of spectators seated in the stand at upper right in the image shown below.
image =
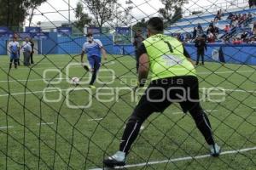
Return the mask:
[[(223, 20), (223, 11), (218, 10), (217, 14), (214, 17), (207, 27), (207, 30), (204, 31), (201, 24), (194, 27), (194, 31), (192, 33), (180, 34), (177, 33), (175, 36), (182, 42), (195, 42), (198, 38), (203, 37), (206, 42), (230, 42), (234, 44), (238, 43), (255, 43), (256, 38), (256, 22), (253, 24), (252, 30), (248, 30), (247, 26), (253, 19), (253, 14), (232, 14), (230, 13), (227, 17), (227, 21), (230, 21), (230, 24), (224, 26), (223, 29), (220, 29), (218, 26), (218, 21)], [(244, 30), (241, 35), (236, 35), (234, 38), (235, 29), (239, 28), (240, 30)], [(220, 36), (218, 36), (222, 33)], [(236, 33), (236, 32), (235, 32)]]

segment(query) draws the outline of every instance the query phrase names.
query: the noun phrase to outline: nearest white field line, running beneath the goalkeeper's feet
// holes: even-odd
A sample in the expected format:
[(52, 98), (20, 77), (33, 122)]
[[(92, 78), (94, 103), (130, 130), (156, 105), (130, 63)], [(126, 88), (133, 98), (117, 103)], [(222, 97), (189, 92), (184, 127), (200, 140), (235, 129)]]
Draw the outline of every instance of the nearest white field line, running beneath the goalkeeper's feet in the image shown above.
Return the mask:
[[(256, 150), (256, 147), (253, 148), (245, 148), (241, 150), (227, 150), (222, 152), (220, 155), (230, 155), (230, 154), (239, 154), (242, 152), (247, 152), (250, 150)], [(114, 167), (114, 169), (123, 169), (127, 167), (144, 167), (148, 165), (157, 165), (161, 163), (169, 163), (169, 162), (176, 162), (176, 161), (190, 161), (190, 160), (198, 160), (198, 159), (203, 159), (211, 157), (211, 155), (202, 155), (202, 156), (186, 156), (186, 157), (179, 157), (179, 158), (174, 158), (174, 159), (168, 159), (168, 160), (163, 160), (163, 161), (148, 161), (148, 162), (143, 162), (143, 163), (138, 163), (138, 164), (131, 164), (131, 165), (126, 165), (125, 167)], [(213, 159), (213, 158), (212, 158)], [(91, 168), (90, 170), (103, 170), (102, 168)]]

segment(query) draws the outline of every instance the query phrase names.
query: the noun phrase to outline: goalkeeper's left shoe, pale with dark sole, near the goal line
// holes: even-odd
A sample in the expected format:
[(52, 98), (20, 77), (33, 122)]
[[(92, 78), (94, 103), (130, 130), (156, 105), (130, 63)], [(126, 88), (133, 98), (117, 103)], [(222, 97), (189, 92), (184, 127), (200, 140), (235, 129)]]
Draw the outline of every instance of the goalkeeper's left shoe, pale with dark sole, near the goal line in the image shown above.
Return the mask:
[(109, 156), (103, 161), (106, 167), (125, 166), (125, 152), (117, 151), (113, 156)]

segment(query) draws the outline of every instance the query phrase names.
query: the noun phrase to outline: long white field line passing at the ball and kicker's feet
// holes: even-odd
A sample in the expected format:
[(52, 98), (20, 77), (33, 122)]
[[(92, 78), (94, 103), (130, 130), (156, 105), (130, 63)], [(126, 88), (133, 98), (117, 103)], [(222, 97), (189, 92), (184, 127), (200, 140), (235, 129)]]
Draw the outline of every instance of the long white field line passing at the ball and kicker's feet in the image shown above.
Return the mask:
[[(80, 67), (80, 66), (77, 66)], [(49, 68), (48, 68), (49, 69)], [(225, 74), (225, 73), (235, 73), (235, 72), (254, 72), (254, 71), (219, 71), (219, 72), (214, 72), (214, 74)], [(198, 75), (202, 74), (212, 74), (212, 72), (198, 72)], [(131, 75), (131, 76), (120, 76), (120, 77), (115, 77), (115, 79), (117, 78), (122, 78), (122, 77), (137, 77), (135, 75)], [(89, 79), (90, 77), (84, 77), (83, 79)], [(99, 77), (99, 78), (113, 78), (113, 77)], [(54, 79), (44, 79), (44, 78), (37, 78), (37, 79), (20, 79), (20, 80), (0, 80), (0, 82), (37, 82), (37, 81), (54, 81), (54, 80), (67, 80), (67, 78), (54, 78)]]

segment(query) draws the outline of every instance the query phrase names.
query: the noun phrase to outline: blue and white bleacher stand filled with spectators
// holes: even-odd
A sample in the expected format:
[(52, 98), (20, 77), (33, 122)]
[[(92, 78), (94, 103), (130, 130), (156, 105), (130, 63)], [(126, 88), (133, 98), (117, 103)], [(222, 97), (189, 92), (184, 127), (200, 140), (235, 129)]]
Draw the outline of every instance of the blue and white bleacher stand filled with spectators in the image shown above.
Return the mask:
[[(254, 41), (256, 36), (256, 8), (218, 10), (217, 13), (195, 14), (178, 20), (166, 30), (167, 34), (179, 37), (183, 42), (194, 42), (199, 34), (207, 35), (207, 42)], [(242, 32), (247, 37), (241, 37)]]

